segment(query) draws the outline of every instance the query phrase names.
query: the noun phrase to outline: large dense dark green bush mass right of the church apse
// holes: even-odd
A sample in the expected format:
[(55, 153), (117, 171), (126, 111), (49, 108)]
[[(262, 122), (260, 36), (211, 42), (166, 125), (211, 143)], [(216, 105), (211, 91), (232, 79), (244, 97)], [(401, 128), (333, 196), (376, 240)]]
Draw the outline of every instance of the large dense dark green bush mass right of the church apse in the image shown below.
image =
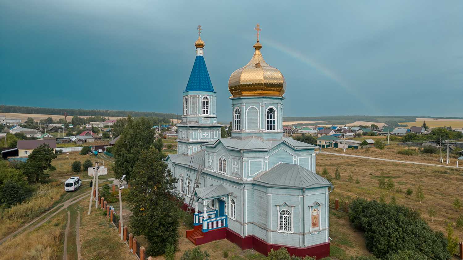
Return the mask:
[(350, 223), (364, 231), (366, 247), (376, 257), (408, 250), (436, 260), (450, 259), (444, 234), (432, 230), (406, 206), (359, 198), (350, 202), (348, 215)]

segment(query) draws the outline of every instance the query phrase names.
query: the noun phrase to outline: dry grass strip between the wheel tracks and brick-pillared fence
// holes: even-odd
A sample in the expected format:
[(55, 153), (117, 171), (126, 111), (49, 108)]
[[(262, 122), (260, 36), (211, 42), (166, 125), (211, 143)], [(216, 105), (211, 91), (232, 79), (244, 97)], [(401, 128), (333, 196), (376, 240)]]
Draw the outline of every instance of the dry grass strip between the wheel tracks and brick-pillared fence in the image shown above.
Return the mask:
[(134, 260), (129, 247), (121, 242), (119, 232), (106, 217), (101, 209), (92, 209), (87, 215), (88, 200), (82, 200), (77, 209), (81, 211), (81, 225), (79, 236), (81, 242), (82, 259), (98, 260)]

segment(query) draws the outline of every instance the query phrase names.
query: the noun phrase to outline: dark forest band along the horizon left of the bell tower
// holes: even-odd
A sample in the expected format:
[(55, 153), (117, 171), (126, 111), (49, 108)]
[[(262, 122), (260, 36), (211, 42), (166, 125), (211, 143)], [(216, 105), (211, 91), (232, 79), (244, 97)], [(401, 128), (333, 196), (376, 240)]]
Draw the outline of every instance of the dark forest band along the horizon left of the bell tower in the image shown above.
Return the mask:
[(121, 116), (126, 117), (131, 115), (132, 117), (140, 116), (153, 116), (158, 118), (176, 118), (175, 114), (165, 114), (156, 112), (139, 112), (139, 111), (125, 111), (125, 110), (102, 110), (102, 109), (50, 109), (50, 108), (35, 108), (35, 107), (21, 107), (21, 106), (8, 106), (0, 105), (0, 113), (22, 113), (22, 114), (44, 114), (44, 115), (64, 115), (64, 112), (68, 113), (68, 116)]

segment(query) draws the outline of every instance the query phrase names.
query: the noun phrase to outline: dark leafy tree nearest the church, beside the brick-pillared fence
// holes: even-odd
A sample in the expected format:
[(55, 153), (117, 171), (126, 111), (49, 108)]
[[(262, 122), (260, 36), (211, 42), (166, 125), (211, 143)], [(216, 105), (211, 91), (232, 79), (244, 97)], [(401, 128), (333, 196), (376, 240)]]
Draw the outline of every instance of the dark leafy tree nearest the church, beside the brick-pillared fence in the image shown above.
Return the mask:
[(150, 244), (147, 253), (151, 255), (164, 254), (168, 244), (176, 248), (179, 238), (177, 179), (162, 159), (163, 154), (154, 147), (142, 150), (129, 179), (131, 231), (145, 236)]

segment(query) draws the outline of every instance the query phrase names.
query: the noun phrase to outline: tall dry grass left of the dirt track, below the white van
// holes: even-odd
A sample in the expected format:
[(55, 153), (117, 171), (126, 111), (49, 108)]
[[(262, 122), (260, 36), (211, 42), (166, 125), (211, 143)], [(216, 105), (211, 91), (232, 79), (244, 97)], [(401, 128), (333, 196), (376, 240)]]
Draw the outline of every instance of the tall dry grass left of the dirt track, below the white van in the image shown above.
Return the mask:
[(2, 212), (0, 237), (5, 237), (14, 232), (21, 224), (38, 217), (50, 208), (64, 193), (62, 185), (60, 182), (41, 185), (30, 200)]

